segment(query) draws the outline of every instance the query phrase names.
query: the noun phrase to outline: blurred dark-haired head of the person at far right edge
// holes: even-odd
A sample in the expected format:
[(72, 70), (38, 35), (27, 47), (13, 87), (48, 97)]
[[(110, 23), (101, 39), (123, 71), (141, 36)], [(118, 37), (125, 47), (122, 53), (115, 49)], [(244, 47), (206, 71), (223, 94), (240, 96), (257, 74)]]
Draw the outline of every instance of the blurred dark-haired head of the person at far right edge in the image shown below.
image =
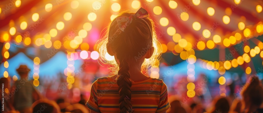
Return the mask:
[(263, 102), (263, 88), (260, 85), (258, 77), (250, 77), (250, 83), (241, 93), (242, 105), (244, 109), (252, 106), (260, 107)]

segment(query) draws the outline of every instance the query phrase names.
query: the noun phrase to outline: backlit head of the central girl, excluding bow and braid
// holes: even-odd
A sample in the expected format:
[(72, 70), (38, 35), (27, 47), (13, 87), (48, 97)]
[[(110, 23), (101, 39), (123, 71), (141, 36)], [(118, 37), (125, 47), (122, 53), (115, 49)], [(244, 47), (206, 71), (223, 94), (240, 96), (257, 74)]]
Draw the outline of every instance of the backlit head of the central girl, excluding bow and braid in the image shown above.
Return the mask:
[[(123, 11), (112, 21), (108, 32), (99, 41), (100, 60), (113, 65), (112, 73), (117, 74), (119, 65), (128, 62), (130, 67), (146, 71), (159, 61), (162, 48), (157, 40), (154, 22), (150, 17), (136, 18), (135, 13)], [(122, 31), (117, 18), (129, 17), (132, 22)], [(107, 49), (106, 49), (107, 48)], [(107, 60), (105, 54), (114, 56), (115, 60)]]

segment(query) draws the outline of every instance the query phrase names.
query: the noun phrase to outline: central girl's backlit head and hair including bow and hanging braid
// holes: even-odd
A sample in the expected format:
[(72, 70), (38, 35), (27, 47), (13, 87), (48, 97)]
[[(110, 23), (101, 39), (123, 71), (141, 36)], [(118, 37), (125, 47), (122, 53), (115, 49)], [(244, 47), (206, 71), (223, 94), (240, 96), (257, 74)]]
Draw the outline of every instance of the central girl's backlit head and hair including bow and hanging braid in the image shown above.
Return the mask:
[[(136, 13), (123, 11), (112, 21), (108, 32), (99, 41), (100, 60), (110, 64), (112, 73), (119, 75), (117, 84), (120, 112), (132, 111), (129, 69), (135, 68), (146, 72), (148, 67), (153, 67), (159, 62), (162, 52), (154, 22), (148, 16), (148, 12), (143, 8)], [(106, 53), (114, 56), (115, 60), (107, 60)]]

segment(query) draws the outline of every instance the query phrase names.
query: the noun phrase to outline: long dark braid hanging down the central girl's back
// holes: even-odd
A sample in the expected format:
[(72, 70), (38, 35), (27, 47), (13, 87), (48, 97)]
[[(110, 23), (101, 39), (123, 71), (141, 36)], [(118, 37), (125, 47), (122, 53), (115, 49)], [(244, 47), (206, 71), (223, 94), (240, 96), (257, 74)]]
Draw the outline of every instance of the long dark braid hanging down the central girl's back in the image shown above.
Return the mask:
[(119, 78), (117, 80), (117, 84), (119, 86), (119, 108), (120, 113), (131, 113), (132, 111), (132, 104), (131, 104), (131, 79), (130, 79), (130, 72), (128, 62), (125, 57), (121, 57), (119, 59), (119, 71), (118, 75)]

